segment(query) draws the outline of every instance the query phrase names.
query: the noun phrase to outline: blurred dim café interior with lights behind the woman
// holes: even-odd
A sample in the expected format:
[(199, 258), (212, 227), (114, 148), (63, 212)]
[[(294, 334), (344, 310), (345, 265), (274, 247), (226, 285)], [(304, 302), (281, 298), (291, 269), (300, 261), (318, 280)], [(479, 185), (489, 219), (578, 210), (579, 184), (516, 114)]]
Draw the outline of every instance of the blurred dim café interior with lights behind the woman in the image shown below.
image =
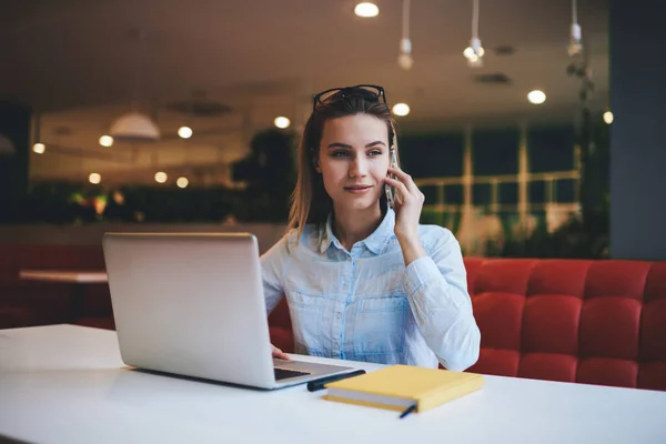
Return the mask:
[[(312, 94), (383, 85), (423, 223), (609, 255), (603, 0), (28, 0), (0, 16), (6, 241), (284, 231)], [(264, 233), (264, 234), (262, 234)], [(266, 234), (268, 233), (268, 234)]]

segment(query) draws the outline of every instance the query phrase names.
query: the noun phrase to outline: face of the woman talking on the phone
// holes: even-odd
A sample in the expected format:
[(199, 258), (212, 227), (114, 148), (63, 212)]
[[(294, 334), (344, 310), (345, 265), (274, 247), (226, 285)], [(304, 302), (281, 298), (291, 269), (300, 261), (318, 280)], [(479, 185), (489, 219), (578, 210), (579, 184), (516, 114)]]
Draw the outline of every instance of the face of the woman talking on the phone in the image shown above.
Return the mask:
[(389, 171), (386, 122), (370, 114), (330, 119), (324, 123), (317, 172), (336, 209), (366, 210), (384, 192)]

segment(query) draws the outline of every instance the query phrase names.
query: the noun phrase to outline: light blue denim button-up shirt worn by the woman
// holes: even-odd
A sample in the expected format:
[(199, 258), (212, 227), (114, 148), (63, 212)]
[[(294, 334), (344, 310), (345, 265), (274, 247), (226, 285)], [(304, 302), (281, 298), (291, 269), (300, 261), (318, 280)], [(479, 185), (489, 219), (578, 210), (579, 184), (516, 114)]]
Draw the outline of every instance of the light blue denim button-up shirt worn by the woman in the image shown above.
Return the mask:
[(269, 313), (286, 296), (295, 352), (313, 356), (463, 371), (478, 359), (460, 244), (451, 231), (420, 225), (427, 256), (405, 268), (389, 210), (351, 252), (331, 230), (306, 225), (262, 255)]

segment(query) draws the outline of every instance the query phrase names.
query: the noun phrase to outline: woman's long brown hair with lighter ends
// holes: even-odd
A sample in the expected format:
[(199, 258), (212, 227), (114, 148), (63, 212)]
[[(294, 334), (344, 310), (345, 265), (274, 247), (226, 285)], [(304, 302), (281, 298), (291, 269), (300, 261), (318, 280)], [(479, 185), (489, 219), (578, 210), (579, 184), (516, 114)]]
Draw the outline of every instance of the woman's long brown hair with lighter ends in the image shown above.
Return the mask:
[[(324, 123), (330, 119), (355, 114), (374, 115), (386, 122), (389, 143), (396, 150), (397, 157), (395, 122), (386, 103), (370, 101), (361, 95), (351, 94), (343, 98), (332, 98), (319, 104), (305, 123), (299, 145), (299, 174), (291, 198), (287, 229), (297, 230), (296, 242), (301, 239), (305, 224), (311, 223), (322, 226), (333, 211), (333, 201), (324, 189), (321, 174), (315, 170)], [(380, 204), (383, 209), (386, 208), (386, 196), (383, 193)]]

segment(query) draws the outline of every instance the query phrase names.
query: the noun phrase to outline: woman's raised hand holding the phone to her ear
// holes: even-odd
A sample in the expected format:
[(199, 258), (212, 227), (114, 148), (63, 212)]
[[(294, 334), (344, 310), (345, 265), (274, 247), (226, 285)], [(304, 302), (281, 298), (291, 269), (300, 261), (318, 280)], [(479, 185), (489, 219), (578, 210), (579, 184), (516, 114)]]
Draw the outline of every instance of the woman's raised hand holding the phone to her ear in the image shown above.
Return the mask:
[(395, 189), (395, 236), (402, 243), (418, 244), (418, 221), (425, 196), (412, 180), (412, 176), (400, 168), (389, 168), (389, 173), (397, 180), (386, 178), (390, 186)]

